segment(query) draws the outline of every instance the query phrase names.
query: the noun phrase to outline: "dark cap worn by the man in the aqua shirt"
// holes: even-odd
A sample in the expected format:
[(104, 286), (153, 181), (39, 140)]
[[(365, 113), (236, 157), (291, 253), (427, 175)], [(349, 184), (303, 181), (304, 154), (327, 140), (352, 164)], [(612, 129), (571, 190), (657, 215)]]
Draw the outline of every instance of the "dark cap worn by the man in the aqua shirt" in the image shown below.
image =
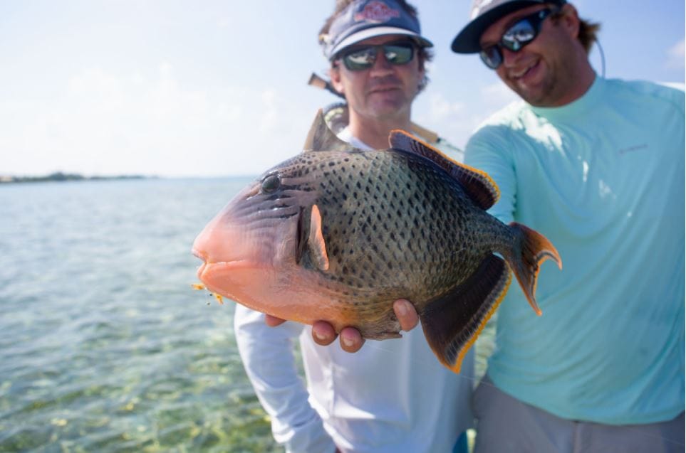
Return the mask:
[(566, 0), (474, 0), (469, 14), (471, 22), (457, 33), (450, 48), (456, 53), (478, 53), (481, 51), (479, 40), (482, 34), (500, 18), (527, 6), (542, 4), (562, 6), (566, 3)]

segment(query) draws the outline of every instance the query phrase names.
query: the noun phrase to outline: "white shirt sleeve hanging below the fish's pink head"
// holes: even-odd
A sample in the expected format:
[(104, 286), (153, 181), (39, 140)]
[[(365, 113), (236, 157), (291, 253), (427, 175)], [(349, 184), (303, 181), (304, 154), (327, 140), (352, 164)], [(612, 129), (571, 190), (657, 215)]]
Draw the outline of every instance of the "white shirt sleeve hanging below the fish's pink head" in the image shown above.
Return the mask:
[(308, 402), (298, 375), (293, 340), (303, 329), (291, 321), (269, 327), (264, 314), (236, 305), (234, 330), (239, 353), (257, 398), (271, 417), (274, 439), (284, 444), (286, 452), (334, 452), (336, 445)]

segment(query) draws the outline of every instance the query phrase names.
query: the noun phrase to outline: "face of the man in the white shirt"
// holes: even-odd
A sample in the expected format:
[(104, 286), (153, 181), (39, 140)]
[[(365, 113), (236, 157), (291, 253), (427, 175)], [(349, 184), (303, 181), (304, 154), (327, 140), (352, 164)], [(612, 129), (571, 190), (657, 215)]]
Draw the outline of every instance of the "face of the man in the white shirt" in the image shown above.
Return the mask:
[[(376, 36), (355, 43), (355, 47), (394, 43), (402, 35)], [(331, 82), (345, 95), (350, 115), (362, 119), (389, 121), (410, 118), (412, 100), (419, 92), (424, 68), (417, 57), (404, 65), (393, 65), (379, 52), (374, 65), (365, 70), (349, 70), (338, 60), (331, 69)]]

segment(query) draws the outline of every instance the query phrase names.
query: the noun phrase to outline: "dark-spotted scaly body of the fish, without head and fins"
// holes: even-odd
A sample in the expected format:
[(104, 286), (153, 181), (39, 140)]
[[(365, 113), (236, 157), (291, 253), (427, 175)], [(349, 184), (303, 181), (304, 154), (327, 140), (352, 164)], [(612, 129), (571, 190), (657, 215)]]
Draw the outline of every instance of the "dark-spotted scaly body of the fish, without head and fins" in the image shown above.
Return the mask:
[[(378, 300), (427, 301), (452, 289), (493, 251), (493, 219), (452, 176), (400, 151), (317, 151), (291, 161), (296, 189), (316, 191), (331, 287), (355, 310)], [(370, 299), (373, 294), (373, 299)], [(362, 305), (363, 307), (360, 307)]]

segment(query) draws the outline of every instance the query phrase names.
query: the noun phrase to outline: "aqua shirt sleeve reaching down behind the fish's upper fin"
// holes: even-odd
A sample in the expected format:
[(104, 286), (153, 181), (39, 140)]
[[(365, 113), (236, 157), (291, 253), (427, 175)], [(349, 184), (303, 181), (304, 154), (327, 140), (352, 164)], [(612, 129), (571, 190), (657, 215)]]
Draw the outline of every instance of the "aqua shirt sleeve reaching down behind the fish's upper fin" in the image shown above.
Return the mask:
[(464, 163), (485, 171), (497, 184), (500, 198), (489, 213), (503, 223), (514, 220), (517, 194), (516, 169), (508, 137), (504, 127), (485, 126), (469, 139), (464, 149)]

